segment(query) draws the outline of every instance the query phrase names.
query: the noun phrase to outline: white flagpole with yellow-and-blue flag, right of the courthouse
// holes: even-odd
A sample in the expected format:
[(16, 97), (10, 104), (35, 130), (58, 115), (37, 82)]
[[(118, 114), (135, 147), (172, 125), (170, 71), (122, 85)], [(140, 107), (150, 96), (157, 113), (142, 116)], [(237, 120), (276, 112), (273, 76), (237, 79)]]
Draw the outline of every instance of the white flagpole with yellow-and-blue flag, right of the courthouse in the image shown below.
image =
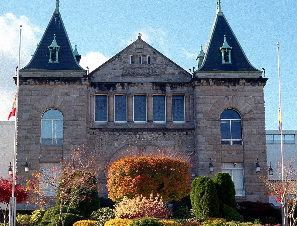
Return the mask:
[(283, 195), (283, 208), (282, 208), (282, 225), (288, 226), (287, 222), (287, 200), (285, 197), (285, 180), (284, 180), (284, 159), (283, 159), (283, 140), (282, 140), (282, 102), (280, 95), (280, 70), (279, 70), (279, 42), (277, 42), (277, 66), (278, 66), (278, 80), (279, 80), (279, 128), (280, 128), (280, 146), (282, 155), (282, 195)]

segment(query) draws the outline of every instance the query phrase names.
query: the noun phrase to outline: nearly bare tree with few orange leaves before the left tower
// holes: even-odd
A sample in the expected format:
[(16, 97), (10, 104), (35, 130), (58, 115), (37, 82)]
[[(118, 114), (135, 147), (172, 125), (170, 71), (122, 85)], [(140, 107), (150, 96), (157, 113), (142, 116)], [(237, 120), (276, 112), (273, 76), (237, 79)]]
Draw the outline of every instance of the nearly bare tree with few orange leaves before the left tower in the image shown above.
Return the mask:
[[(27, 180), (27, 186), (32, 191), (30, 202), (49, 209), (56, 200), (59, 203), (59, 216), (55, 216), (53, 212), (50, 214), (57, 226), (64, 226), (75, 201), (84, 200), (88, 198), (88, 193), (98, 191), (97, 183), (94, 183), (98, 170), (96, 159), (95, 155), (86, 153), (83, 148), (76, 148), (69, 151), (69, 157), (63, 158), (61, 164), (32, 174), (33, 178)], [(55, 196), (49, 197), (49, 189)]]

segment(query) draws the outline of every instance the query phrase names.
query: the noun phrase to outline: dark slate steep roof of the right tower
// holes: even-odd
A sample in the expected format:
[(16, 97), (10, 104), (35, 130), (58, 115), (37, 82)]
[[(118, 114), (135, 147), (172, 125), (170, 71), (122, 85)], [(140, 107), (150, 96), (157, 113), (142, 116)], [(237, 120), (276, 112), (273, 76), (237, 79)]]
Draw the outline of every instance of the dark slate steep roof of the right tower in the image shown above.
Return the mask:
[[(232, 64), (222, 64), (222, 52), (220, 47), (222, 47), (224, 43), (224, 35), (226, 35), (226, 41), (230, 47), (232, 47)], [(217, 12), (214, 20), (206, 45), (205, 56), (197, 72), (199, 71), (260, 71), (253, 67), (247, 59), (247, 56), (244, 54), (235, 34), (221, 11)]]

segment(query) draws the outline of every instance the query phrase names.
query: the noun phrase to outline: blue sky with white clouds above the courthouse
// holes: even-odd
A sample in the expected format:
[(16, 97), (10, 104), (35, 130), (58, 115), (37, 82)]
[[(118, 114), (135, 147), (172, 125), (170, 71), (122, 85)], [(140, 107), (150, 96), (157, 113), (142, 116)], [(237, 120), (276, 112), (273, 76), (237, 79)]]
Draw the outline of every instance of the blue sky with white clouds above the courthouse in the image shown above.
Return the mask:
[[(297, 129), (297, 20), (296, 1), (221, 0), (222, 12), (247, 58), (266, 70), (264, 88), (266, 129), (277, 129), (278, 72), (280, 73), (283, 129)], [(12, 77), (18, 61), (26, 66), (56, 8), (56, 0), (3, 1), (0, 9), (0, 121), (7, 121), (16, 86)], [(90, 71), (135, 41), (142, 39), (184, 69), (197, 69), (196, 56), (208, 40), (216, 14), (216, 0), (73, 1), (60, 0), (60, 12), (70, 42)], [(14, 120), (12, 117), (10, 120)]]

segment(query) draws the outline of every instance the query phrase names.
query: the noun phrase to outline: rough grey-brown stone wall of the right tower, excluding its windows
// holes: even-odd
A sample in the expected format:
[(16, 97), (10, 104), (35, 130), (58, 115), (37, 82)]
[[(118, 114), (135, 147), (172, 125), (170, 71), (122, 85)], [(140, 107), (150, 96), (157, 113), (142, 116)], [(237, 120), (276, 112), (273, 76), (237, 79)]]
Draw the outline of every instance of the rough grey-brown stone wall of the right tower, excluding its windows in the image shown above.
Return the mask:
[[(265, 138), (265, 83), (242, 79), (197, 80), (195, 82), (195, 146), (197, 175), (213, 177), (222, 163), (244, 164), (245, 196), (237, 200), (267, 202), (265, 187), (259, 176), (267, 175)], [(225, 109), (237, 110), (242, 118), (242, 146), (223, 146), (220, 138), (220, 114)], [(209, 173), (211, 158), (214, 173)], [(259, 158), (261, 172), (256, 173)]]

